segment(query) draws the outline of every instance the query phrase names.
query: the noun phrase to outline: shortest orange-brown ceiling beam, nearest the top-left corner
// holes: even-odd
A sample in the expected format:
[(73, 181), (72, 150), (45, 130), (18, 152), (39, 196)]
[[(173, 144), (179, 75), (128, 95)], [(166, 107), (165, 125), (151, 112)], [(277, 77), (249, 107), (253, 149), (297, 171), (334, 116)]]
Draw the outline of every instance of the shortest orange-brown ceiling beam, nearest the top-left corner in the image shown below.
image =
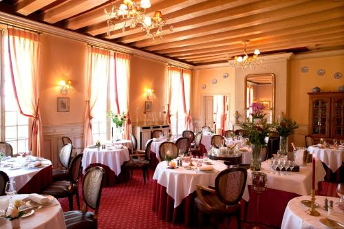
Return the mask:
[(33, 12), (53, 3), (56, 0), (22, 0), (18, 1), (14, 6), (14, 9), (19, 14), (28, 16)]

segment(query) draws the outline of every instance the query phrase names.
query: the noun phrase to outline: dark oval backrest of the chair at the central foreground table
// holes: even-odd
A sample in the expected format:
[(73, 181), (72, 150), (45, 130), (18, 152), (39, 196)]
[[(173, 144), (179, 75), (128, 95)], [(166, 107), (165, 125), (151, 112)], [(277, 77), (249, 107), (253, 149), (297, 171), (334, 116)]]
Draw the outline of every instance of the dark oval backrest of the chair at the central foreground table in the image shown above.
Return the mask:
[(227, 168), (215, 179), (215, 191), (219, 200), (228, 206), (237, 204), (244, 193), (247, 171), (245, 168)]

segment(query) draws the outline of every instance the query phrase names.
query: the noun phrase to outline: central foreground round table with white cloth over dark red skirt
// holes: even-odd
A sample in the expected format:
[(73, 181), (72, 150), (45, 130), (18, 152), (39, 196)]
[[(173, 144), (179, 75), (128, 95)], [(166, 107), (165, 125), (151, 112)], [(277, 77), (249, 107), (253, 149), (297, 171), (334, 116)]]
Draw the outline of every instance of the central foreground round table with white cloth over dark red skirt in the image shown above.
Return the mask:
[[(194, 159), (193, 164), (197, 164), (196, 161)], [(215, 177), (227, 168), (221, 161), (209, 160), (208, 164), (212, 164), (212, 171), (198, 171), (197, 166), (190, 167), (184, 161), (183, 166), (174, 169), (169, 168), (166, 161), (158, 164), (153, 175), (152, 206), (158, 219), (192, 225), (196, 185), (215, 186)]]

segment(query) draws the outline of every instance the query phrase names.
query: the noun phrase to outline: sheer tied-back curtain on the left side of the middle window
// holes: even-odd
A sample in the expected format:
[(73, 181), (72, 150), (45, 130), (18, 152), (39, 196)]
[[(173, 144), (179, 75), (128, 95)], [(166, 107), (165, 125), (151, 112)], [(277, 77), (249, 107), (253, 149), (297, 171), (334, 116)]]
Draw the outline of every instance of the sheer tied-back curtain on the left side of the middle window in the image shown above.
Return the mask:
[(88, 47), (84, 146), (93, 144), (92, 119), (107, 120), (107, 87), (110, 52)]

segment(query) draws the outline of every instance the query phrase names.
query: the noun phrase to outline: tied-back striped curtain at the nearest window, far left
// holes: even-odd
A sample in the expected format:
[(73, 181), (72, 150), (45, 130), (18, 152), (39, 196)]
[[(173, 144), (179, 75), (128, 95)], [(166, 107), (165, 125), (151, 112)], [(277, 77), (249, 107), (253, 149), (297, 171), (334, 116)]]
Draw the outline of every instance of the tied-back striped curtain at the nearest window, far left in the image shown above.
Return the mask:
[(39, 112), (41, 41), (39, 34), (8, 28), (10, 72), (19, 111), (30, 118), (29, 149), (43, 156), (42, 122)]

